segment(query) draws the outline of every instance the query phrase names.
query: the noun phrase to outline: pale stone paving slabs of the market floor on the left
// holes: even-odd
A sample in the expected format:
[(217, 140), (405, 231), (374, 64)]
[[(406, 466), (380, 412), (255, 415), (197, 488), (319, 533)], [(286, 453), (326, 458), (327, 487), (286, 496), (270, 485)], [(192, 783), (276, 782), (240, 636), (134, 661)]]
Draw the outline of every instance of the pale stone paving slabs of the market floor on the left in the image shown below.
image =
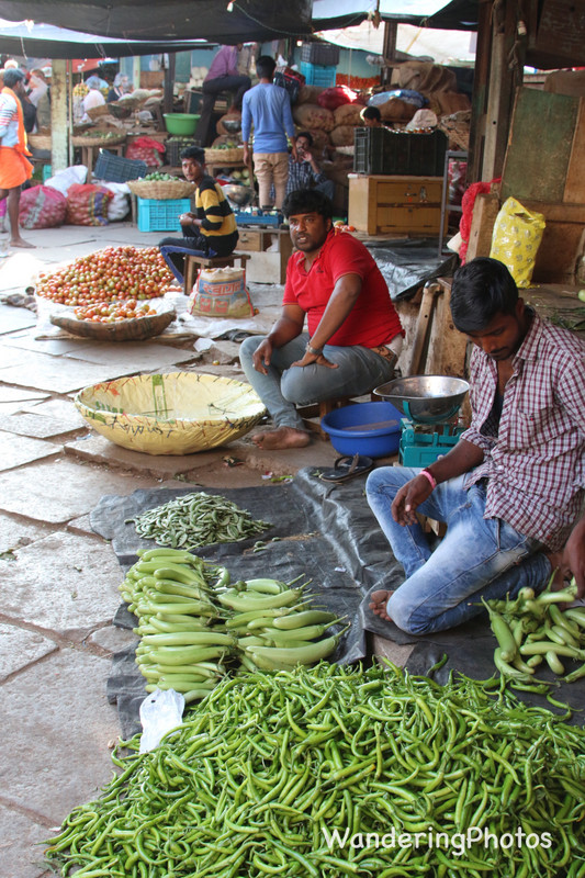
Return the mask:
[[(130, 223), (105, 228), (26, 232), (37, 248), (0, 260), (0, 296), (22, 294), (38, 271), (110, 244), (153, 245)], [(258, 290), (278, 306), (278, 288)], [(267, 471), (331, 465), (327, 442), (261, 452), (246, 439), (203, 454), (155, 458), (92, 432), (75, 408), (75, 391), (98, 380), (160, 368), (201, 369), (241, 378), (227, 342), (222, 365), (201, 362), (194, 345), (161, 339), (97, 346), (36, 339), (36, 316), (0, 304), (0, 855), (2, 878), (44, 876), (44, 838), (67, 813), (99, 793), (112, 774), (120, 734), (105, 698), (111, 656), (133, 634), (112, 626), (121, 570), (89, 526), (103, 494), (132, 494), (181, 477), (185, 484), (263, 484)], [(135, 348), (135, 351), (134, 351)], [(217, 350), (212, 354), (220, 358)], [(228, 468), (223, 458), (244, 465)]]

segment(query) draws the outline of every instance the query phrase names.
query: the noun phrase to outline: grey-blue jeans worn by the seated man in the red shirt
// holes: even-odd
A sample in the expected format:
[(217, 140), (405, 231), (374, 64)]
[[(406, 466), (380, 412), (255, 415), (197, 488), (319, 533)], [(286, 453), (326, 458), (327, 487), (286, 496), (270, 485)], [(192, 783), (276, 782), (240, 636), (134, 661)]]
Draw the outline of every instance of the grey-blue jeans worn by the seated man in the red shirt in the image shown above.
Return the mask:
[(249, 336), (239, 349), (239, 359), (246, 378), (266, 405), (277, 427), (293, 427), (305, 430), (303, 419), (296, 410), (297, 405), (310, 405), (338, 396), (361, 396), (370, 393), (379, 384), (394, 378), (394, 364), (369, 348), (360, 346), (339, 348), (325, 345), (325, 357), (338, 369), (326, 365), (293, 367), (302, 360), (308, 335), (293, 338), (282, 348), (272, 351), (268, 374), (257, 372), (252, 354), (263, 341), (263, 336)]

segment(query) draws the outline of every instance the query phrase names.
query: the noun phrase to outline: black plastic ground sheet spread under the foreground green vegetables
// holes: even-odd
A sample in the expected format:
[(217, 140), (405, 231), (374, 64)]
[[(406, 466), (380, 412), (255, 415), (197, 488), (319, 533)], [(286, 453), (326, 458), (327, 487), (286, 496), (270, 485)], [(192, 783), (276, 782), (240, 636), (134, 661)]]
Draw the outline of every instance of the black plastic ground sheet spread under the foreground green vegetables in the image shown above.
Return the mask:
[[(447, 664), (436, 677), (439, 683), (446, 683), (452, 672), (487, 679), (495, 673), (495, 640), (485, 617), (449, 631), (414, 637), (369, 609), (370, 593), (375, 588), (398, 587), (403, 572), (368, 506), (364, 484), (363, 477), (341, 484), (323, 482), (318, 471), (305, 469), (285, 484), (230, 491), (204, 488), (209, 494), (227, 497), (254, 518), (272, 522), (272, 528), (258, 538), (266, 543), (262, 551), (252, 552), (256, 539), (250, 539), (205, 547), (198, 554), (225, 564), (234, 579), (271, 576), (286, 582), (304, 574), (311, 579), (307, 590), (315, 603), (347, 616), (351, 622), (331, 656), (337, 662), (368, 660), (367, 632), (371, 632), (397, 644), (413, 644), (406, 663), (413, 674), (426, 674), (447, 655)], [(201, 488), (154, 488), (125, 497), (104, 496), (91, 513), (91, 526), (112, 541), (120, 564), (126, 570), (137, 560), (136, 550), (153, 548), (153, 541), (138, 538), (134, 525), (125, 524), (125, 519), (198, 489)], [(278, 540), (272, 541), (273, 537)], [(121, 605), (114, 623), (132, 629), (135, 622), (125, 605)], [(116, 653), (108, 682), (108, 697), (117, 705), (123, 736), (140, 731), (138, 711), (146, 695), (134, 650), (135, 645)], [(540, 673), (539, 668), (539, 676), (553, 679), (548, 669)], [(575, 710), (585, 708), (585, 679), (559, 686), (554, 696)], [(519, 697), (550, 707), (542, 696), (519, 693)], [(583, 722), (578, 714), (575, 721)]]

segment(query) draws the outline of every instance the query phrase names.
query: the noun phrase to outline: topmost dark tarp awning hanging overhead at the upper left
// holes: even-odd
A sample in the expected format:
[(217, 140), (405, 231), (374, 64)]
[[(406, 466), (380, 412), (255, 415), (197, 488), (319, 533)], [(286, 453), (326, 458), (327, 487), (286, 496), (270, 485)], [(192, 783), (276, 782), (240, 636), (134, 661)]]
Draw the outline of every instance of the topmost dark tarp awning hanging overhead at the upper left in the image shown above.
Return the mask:
[(312, 0), (0, 0), (0, 16), (120, 40), (235, 44), (311, 33), (312, 5)]

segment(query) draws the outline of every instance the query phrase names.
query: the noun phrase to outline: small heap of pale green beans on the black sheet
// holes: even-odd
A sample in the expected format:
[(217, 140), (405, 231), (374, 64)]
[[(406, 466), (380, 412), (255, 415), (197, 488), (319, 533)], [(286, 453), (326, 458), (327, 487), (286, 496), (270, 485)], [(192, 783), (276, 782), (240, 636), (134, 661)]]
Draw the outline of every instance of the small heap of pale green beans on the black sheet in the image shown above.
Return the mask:
[(134, 521), (136, 533), (158, 545), (172, 549), (198, 549), (214, 542), (237, 542), (255, 537), (271, 527), (255, 521), (249, 513), (225, 497), (204, 491), (184, 494), (162, 506), (147, 509)]

